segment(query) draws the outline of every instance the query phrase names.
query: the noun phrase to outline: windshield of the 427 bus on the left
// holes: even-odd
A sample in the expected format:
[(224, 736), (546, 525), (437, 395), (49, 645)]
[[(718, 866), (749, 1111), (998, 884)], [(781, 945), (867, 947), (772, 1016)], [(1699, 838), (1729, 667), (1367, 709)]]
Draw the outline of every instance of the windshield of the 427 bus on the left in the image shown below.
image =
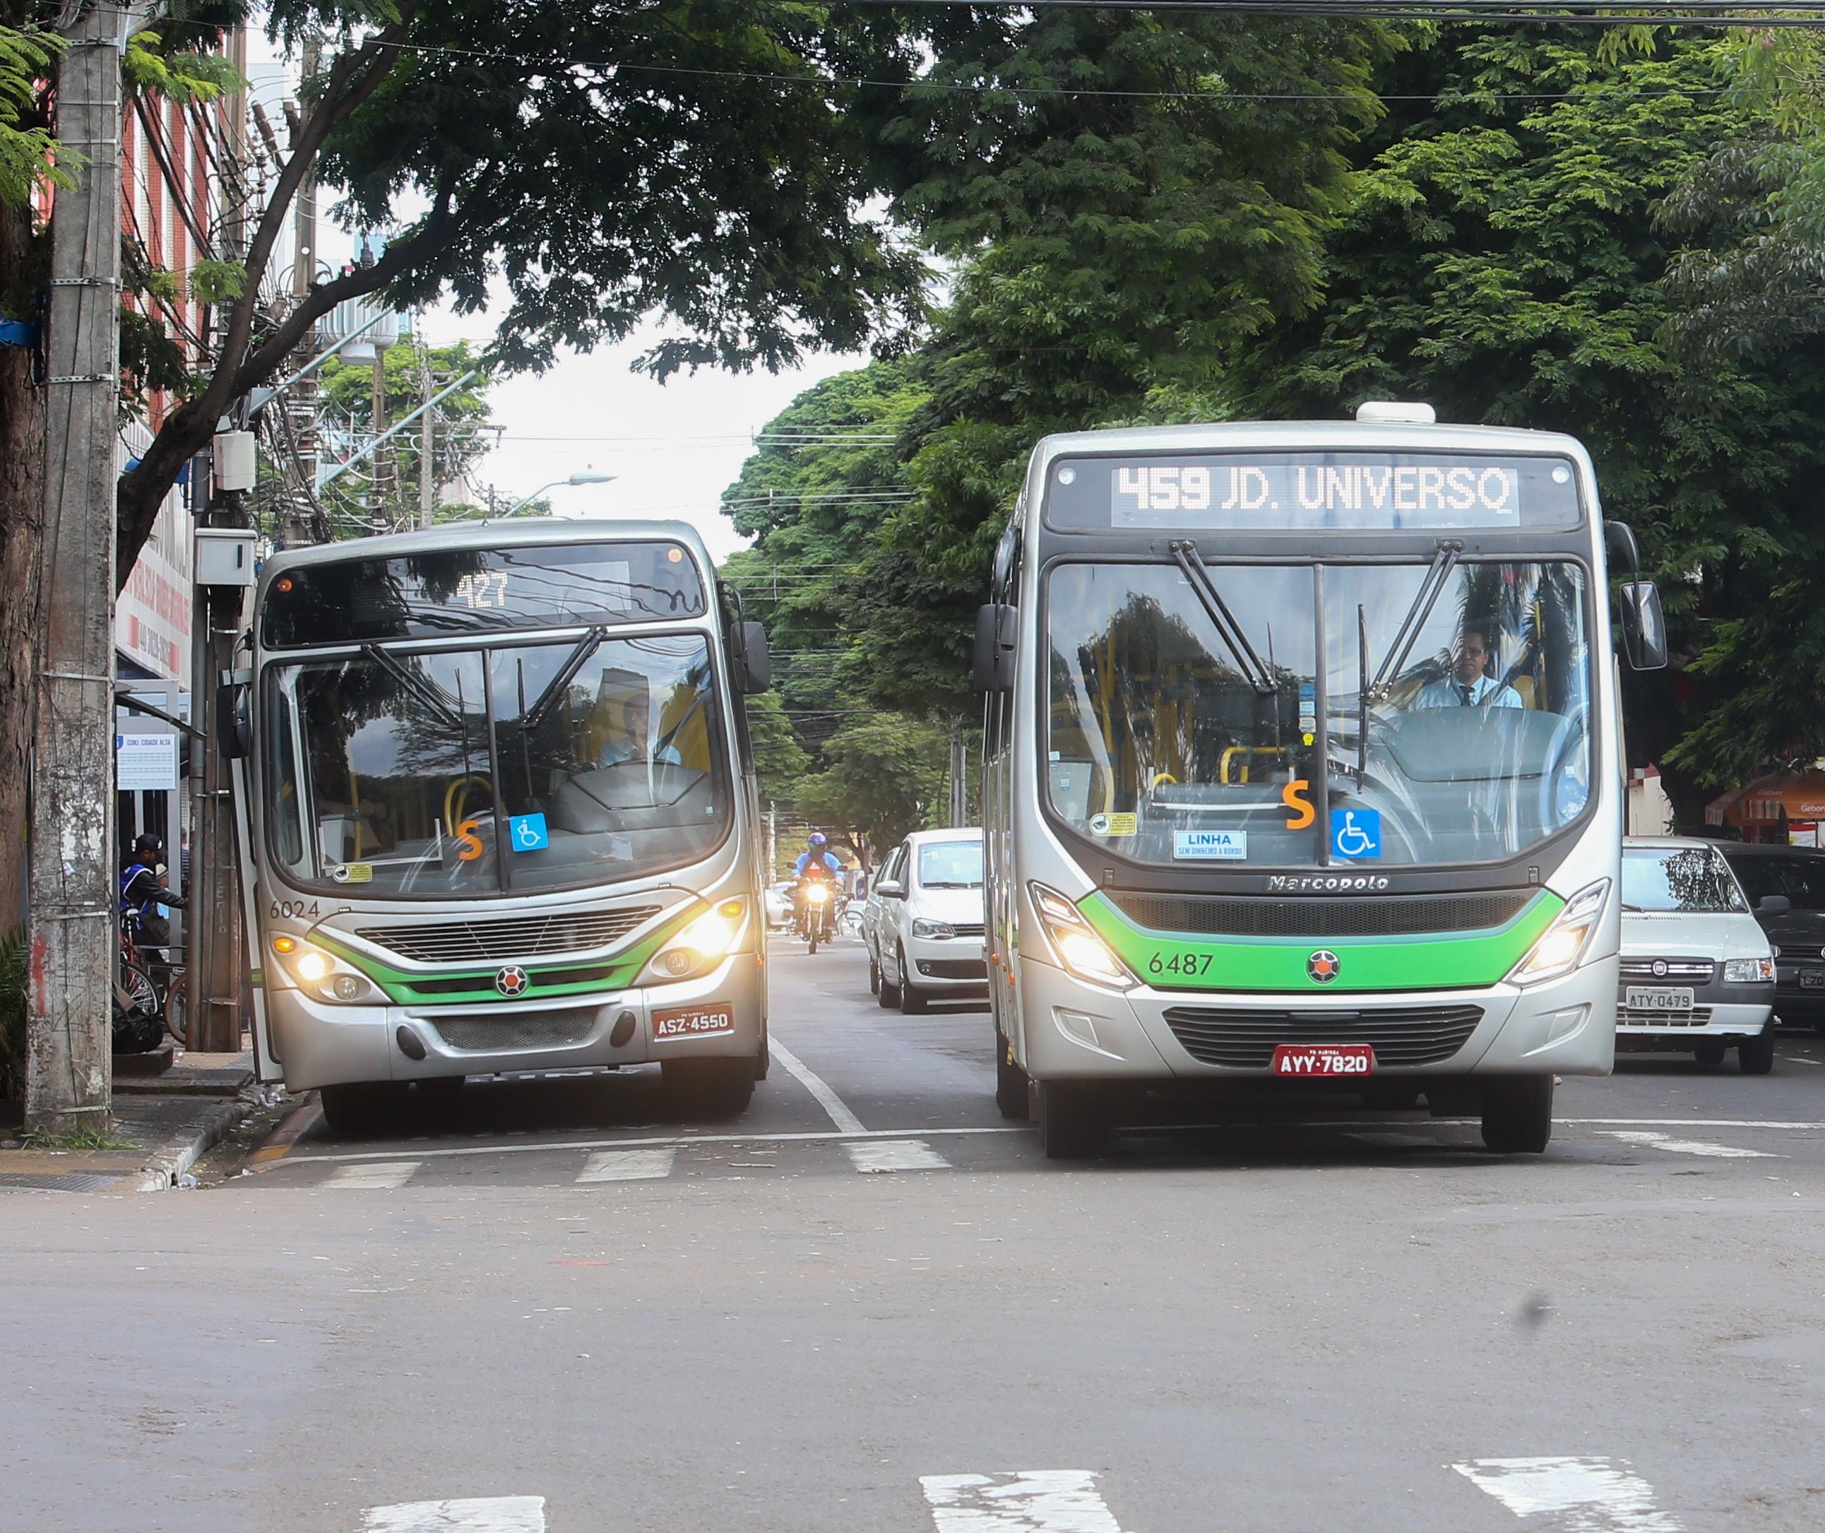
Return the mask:
[(467, 898), (695, 861), (732, 812), (715, 715), (703, 635), (268, 666), (274, 858), (312, 889)]

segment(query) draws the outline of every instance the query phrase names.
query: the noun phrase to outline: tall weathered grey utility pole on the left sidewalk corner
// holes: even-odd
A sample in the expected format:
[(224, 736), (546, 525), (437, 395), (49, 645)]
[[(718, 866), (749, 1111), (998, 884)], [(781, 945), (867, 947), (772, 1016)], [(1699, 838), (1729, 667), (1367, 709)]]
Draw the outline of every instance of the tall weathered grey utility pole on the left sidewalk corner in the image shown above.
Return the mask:
[(26, 1122), (106, 1128), (115, 980), (115, 409), (120, 396), (120, 49), (97, 0), (57, 89), (57, 137), (82, 155), (51, 210), (44, 637), (31, 799)]

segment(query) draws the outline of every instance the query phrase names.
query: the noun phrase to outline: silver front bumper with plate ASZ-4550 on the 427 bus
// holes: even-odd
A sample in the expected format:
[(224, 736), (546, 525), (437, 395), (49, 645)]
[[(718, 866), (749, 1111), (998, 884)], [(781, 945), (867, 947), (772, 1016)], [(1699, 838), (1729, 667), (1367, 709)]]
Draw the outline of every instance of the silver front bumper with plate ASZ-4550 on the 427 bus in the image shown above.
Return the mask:
[(757, 1058), (766, 1015), (754, 953), (732, 954), (695, 980), (562, 1000), (328, 1006), (296, 989), (274, 989), (266, 1009), (292, 1091), (668, 1058)]

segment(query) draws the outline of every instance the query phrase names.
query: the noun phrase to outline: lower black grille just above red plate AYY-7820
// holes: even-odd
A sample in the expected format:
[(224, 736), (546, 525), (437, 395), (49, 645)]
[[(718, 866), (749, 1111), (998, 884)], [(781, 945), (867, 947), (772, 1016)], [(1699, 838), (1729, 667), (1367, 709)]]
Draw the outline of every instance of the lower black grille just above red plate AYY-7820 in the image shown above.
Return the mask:
[(1442, 1064), (1482, 1022), (1480, 1006), (1268, 1011), (1172, 1006), (1166, 1026), (1199, 1064), (1267, 1069), (1278, 1044), (1371, 1044), (1378, 1066)]

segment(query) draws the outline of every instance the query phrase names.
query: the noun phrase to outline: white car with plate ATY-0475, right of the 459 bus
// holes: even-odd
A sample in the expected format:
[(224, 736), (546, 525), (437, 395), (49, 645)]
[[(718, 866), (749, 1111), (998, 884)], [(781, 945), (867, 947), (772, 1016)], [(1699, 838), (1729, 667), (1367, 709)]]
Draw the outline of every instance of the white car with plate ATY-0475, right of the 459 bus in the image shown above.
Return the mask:
[(1745, 1075), (1774, 1068), (1774, 951), (1708, 841), (1622, 841), (1617, 1051), (1684, 1051)]

